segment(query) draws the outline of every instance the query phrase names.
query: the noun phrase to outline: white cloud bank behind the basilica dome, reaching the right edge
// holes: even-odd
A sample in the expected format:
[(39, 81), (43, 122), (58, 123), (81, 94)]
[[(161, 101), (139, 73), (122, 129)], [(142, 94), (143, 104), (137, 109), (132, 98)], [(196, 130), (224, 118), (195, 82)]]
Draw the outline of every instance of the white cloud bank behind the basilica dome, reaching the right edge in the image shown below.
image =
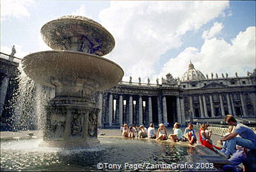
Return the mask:
[(255, 26), (247, 27), (246, 31), (240, 32), (236, 38), (231, 40), (231, 44), (217, 38), (205, 40), (204, 45), (198, 50), (195, 47), (188, 47), (164, 65), (158, 77), (166, 75), (168, 72), (174, 77), (181, 77), (188, 70), (189, 60), (195, 68), (203, 74), (228, 73), (234, 76), (246, 75), (246, 68), (255, 68), (256, 45)]

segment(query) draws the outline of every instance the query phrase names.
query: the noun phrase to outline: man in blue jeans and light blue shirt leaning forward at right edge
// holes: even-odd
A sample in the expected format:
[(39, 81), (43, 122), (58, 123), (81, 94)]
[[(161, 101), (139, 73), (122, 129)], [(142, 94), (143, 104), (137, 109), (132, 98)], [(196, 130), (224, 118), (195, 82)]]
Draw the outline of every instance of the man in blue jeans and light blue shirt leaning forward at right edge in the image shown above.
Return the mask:
[[(228, 158), (236, 152), (236, 145), (243, 146), (250, 150), (256, 150), (256, 134), (252, 129), (242, 123), (237, 123), (236, 118), (230, 114), (225, 117), (225, 121), (228, 125), (234, 126), (232, 133), (221, 138), (221, 141), (226, 141), (221, 149), (221, 152), (225, 153), (225, 157)], [(237, 135), (240, 137), (236, 137)]]

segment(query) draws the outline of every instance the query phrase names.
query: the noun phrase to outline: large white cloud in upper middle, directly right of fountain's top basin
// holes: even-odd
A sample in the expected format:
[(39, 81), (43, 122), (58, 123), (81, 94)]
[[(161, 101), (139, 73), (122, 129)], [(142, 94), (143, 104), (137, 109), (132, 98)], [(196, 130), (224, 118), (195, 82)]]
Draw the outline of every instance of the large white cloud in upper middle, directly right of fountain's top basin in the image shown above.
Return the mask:
[(226, 8), (227, 1), (111, 1), (99, 14), (100, 24), (116, 40), (106, 57), (122, 66), (125, 79), (156, 80), (154, 64), (161, 54), (180, 47), (187, 31), (199, 29)]

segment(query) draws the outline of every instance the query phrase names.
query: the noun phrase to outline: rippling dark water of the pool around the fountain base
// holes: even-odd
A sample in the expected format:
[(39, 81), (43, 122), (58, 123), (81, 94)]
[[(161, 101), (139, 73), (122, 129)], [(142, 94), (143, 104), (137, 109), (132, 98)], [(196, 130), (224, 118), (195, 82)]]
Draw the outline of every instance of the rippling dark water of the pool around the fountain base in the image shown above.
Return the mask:
[(100, 145), (73, 149), (40, 147), (41, 139), (1, 141), (1, 171), (97, 171), (98, 163), (172, 164), (193, 153), (193, 147), (148, 139), (98, 139)]

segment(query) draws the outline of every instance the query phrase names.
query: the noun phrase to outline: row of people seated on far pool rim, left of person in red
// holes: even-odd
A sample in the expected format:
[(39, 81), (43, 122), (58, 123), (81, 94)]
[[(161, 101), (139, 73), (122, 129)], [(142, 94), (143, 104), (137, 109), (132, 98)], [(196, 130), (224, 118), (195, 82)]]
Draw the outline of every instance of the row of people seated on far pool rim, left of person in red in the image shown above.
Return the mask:
[(140, 127), (136, 127), (136, 125), (131, 125), (128, 127), (128, 125), (125, 123), (124, 125), (121, 125), (120, 127), (122, 136), (123, 137), (138, 137), (138, 138), (150, 138), (150, 139), (156, 139), (156, 141), (159, 140), (165, 140), (165, 139), (171, 139), (173, 142), (177, 141), (189, 141), (190, 145), (193, 145), (196, 143), (196, 135), (195, 130), (193, 130), (193, 125), (189, 123), (188, 127), (185, 129), (184, 134), (182, 130), (180, 129), (180, 124), (175, 123), (173, 125), (173, 132), (168, 136), (166, 127), (164, 127), (163, 123), (159, 124), (159, 128), (157, 129), (157, 132), (154, 128), (154, 124), (150, 123), (148, 129), (144, 127), (143, 125), (140, 125)]

